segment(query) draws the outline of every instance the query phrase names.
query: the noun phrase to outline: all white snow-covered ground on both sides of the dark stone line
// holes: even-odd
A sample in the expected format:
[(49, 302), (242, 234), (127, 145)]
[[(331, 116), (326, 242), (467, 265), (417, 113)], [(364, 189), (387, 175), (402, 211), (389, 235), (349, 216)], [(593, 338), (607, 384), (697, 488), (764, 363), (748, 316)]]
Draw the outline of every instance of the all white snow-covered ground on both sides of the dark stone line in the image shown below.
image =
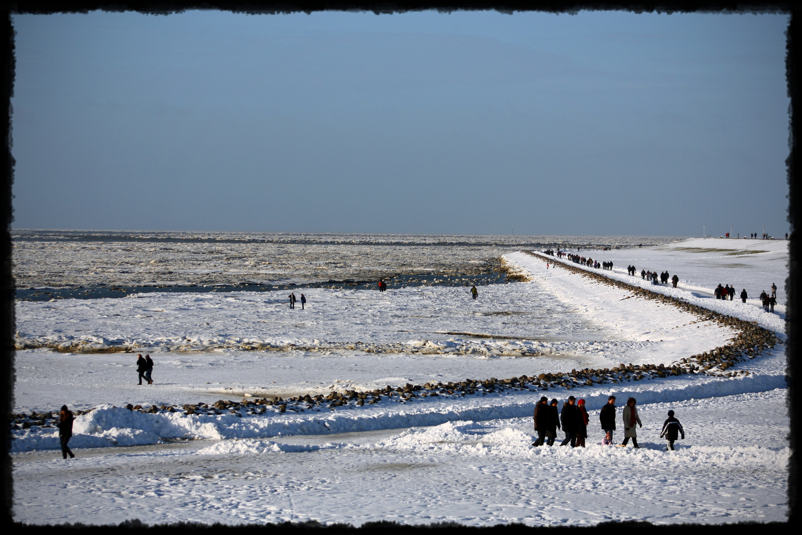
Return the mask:
[[(709, 242), (605, 252), (619, 255), (615, 259), (582, 254), (599, 253), (600, 261), (613, 260), (623, 271), (597, 273), (759, 322), (784, 339), (784, 310), (768, 314), (755, 302), (712, 298), (719, 282), (713, 275), (737, 256), (729, 252), (742, 249), (700, 259), (699, 244)], [(724, 248), (712, 245), (707, 249)], [(784, 286), (785, 243), (759, 245), (767, 252), (743, 253), (739, 267), (727, 267), (729, 282)], [(653, 259), (647, 269), (673, 274), (678, 266), (682, 282), (674, 290), (629, 277), (626, 265), (641, 265), (626, 254)], [(784, 520), (783, 345), (739, 363), (736, 369), (750, 374), (737, 378), (680, 375), (575, 389), (571, 394), (587, 399), (591, 411), (585, 449), (529, 446), (533, 403), (544, 394), (563, 401), (564, 388), (261, 415), (124, 408), (669, 364), (735, 334), (545, 257), (510, 253), (505, 260), (531, 282), (480, 287), (476, 301), (460, 288), (431, 286), (386, 294), (316, 289), (306, 294), (307, 310), (289, 310), (283, 295), (245, 292), (18, 302), (18, 343), (75, 347), (79, 341), (84, 351), (137, 344), (156, 360), (156, 384), (136, 385), (130, 353), (18, 351), (15, 411), (54, 411), (62, 403), (97, 408), (76, 419), (75, 460), (64, 461), (54, 450), (54, 428), (14, 432), (15, 519), (356, 525), (383, 518), (466, 525)], [(597, 411), (610, 393), (619, 407), (630, 395), (638, 399), (641, 450), (598, 444)], [(687, 431), (672, 453), (658, 439), (669, 408)]]

